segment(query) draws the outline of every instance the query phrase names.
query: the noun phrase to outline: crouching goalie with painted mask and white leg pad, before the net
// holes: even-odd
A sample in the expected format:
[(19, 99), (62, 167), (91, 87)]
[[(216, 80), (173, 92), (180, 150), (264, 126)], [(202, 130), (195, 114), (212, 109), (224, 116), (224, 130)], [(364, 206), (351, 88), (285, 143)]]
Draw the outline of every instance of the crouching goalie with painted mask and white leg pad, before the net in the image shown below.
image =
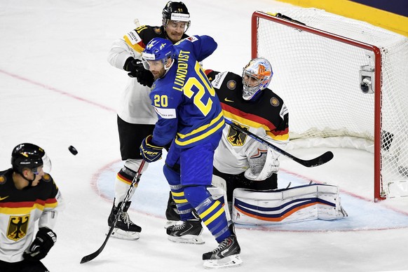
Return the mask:
[[(226, 125), (214, 156), (213, 190), (226, 191), (231, 221), (262, 225), (346, 217), (336, 186), (308, 184), (277, 189), (280, 154), (245, 134), (248, 130), (280, 149), (289, 142), (289, 113), (283, 100), (268, 88), (273, 76), (268, 60), (251, 60), (242, 76), (231, 72), (206, 74), (219, 97), (224, 118), (243, 128), (238, 131)], [(294, 202), (297, 205), (292, 205)], [(320, 202), (325, 204), (315, 205)]]

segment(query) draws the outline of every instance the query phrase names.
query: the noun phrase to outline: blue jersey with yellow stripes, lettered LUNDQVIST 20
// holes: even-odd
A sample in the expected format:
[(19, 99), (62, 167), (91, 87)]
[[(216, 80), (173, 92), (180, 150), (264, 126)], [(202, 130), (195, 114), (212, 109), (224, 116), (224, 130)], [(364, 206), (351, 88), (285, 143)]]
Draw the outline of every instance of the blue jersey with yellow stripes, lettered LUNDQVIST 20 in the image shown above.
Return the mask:
[(198, 63), (214, 52), (217, 43), (210, 36), (191, 36), (175, 48), (175, 62), (151, 88), (158, 114), (153, 141), (164, 146), (175, 139), (178, 147), (189, 148), (215, 140), (212, 136), (224, 128), (218, 97)]

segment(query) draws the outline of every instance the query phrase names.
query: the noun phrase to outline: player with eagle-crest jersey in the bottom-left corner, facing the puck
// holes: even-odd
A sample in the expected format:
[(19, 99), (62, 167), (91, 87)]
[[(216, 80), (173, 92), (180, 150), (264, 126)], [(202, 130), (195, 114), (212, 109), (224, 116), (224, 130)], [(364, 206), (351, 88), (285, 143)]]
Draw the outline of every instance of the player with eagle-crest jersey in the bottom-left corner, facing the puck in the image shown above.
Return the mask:
[(61, 193), (44, 172), (50, 161), (41, 147), (19, 144), (11, 164), (0, 171), (0, 271), (46, 272), (40, 260), (57, 240), (53, 229), (62, 209)]

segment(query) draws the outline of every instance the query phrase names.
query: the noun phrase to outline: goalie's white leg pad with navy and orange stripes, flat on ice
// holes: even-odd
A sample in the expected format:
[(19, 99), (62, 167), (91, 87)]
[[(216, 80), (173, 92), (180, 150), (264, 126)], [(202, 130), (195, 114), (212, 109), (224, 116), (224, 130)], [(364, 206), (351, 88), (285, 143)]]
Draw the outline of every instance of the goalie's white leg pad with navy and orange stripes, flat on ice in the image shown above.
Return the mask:
[(341, 208), (339, 187), (308, 184), (290, 189), (233, 191), (232, 221), (237, 224), (282, 224), (313, 219), (347, 217)]

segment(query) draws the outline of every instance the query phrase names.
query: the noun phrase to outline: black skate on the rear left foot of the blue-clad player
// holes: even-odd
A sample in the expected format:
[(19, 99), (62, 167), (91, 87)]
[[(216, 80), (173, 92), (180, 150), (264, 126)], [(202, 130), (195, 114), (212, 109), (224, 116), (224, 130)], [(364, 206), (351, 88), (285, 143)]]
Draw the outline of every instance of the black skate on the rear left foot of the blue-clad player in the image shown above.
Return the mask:
[(201, 232), (203, 232), (203, 226), (198, 219), (189, 219), (181, 221), (174, 226), (169, 226), (166, 229), (168, 234), (168, 240), (175, 243), (189, 243), (201, 245), (204, 242), (201, 238)]

